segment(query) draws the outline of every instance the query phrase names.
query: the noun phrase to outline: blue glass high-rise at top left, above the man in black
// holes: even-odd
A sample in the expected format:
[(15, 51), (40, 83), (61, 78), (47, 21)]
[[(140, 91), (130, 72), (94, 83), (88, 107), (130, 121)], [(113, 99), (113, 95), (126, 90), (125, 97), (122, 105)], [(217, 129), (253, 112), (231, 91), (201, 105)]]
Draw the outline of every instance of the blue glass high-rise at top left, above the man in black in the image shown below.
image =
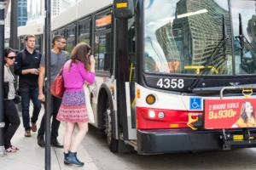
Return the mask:
[(27, 21), (27, 0), (18, 0), (18, 26), (25, 26)]

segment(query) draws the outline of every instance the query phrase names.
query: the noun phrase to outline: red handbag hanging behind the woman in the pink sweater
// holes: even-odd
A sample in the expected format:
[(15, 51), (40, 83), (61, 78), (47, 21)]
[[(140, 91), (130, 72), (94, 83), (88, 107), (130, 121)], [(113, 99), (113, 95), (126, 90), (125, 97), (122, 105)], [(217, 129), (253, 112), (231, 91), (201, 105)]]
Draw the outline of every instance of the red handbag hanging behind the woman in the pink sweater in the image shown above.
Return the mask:
[(64, 79), (63, 79), (63, 67), (59, 71), (58, 75), (55, 77), (55, 80), (50, 85), (50, 94), (54, 95), (56, 98), (62, 98), (65, 88), (64, 88)]

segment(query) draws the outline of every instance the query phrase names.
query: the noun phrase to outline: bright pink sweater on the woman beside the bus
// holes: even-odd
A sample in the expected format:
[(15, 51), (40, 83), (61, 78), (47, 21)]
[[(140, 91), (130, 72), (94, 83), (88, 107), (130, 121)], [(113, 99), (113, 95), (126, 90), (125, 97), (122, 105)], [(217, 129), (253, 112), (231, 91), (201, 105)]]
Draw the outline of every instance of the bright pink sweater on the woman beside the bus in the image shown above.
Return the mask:
[(78, 61), (78, 64), (72, 64), (70, 71), (67, 71), (71, 60), (68, 60), (63, 68), (64, 87), (67, 92), (84, 91), (83, 84), (88, 82), (92, 84), (95, 80), (95, 73), (88, 72), (84, 68), (84, 64)]

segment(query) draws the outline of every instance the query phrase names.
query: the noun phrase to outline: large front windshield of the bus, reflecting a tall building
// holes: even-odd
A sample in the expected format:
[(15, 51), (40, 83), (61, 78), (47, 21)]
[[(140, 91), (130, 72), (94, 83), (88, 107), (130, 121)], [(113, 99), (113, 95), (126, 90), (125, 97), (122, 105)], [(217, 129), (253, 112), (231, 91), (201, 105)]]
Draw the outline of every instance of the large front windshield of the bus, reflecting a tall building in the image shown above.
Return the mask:
[[(236, 36), (231, 35), (228, 0), (144, 0), (146, 72), (200, 74), (207, 70), (208, 75), (232, 75), (234, 71), (252, 74), (242, 69), (238, 52), (239, 59), (232, 59), (231, 39), (241, 48)], [(247, 52), (247, 48), (241, 50)], [(233, 62), (236, 68), (232, 67)]]

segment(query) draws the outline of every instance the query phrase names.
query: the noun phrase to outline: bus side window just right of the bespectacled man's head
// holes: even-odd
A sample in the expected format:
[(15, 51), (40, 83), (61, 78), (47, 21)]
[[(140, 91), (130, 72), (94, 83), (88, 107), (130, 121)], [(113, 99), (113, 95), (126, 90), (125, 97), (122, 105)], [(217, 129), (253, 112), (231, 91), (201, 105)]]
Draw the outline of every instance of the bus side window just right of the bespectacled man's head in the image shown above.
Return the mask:
[(66, 46), (66, 50), (69, 54), (71, 54), (73, 48), (76, 45), (75, 35), (76, 35), (76, 26), (68, 27), (67, 28), (67, 46)]

